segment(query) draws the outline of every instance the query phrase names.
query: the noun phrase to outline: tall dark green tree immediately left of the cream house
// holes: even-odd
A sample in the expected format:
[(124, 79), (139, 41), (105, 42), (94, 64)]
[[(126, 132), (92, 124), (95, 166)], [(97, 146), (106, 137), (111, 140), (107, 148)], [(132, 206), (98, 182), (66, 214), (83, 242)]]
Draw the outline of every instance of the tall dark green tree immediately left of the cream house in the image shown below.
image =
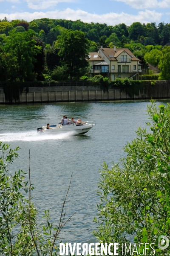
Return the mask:
[(61, 64), (67, 67), (70, 79), (79, 78), (87, 73), (89, 64), (86, 58), (90, 43), (85, 38), (85, 33), (78, 30), (64, 30), (57, 40)]

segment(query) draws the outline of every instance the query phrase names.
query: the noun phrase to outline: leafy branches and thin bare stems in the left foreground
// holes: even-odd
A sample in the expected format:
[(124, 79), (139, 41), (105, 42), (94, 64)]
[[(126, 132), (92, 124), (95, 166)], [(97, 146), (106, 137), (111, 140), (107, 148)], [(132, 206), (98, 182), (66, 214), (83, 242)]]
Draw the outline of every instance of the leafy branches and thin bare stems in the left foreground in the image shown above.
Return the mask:
[[(29, 182), (25, 181), (25, 172), (19, 170), (11, 175), (8, 165), (18, 157), (19, 147), (12, 150), (10, 145), (0, 142), (0, 255), (6, 256), (54, 256), (59, 247), (57, 239), (67, 218), (65, 203), (71, 186), (71, 180), (62, 203), (59, 224), (50, 223), (49, 211), (45, 210), (40, 221), (38, 211), (31, 202), (30, 153)], [(72, 177), (72, 175), (71, 175)], [(22, 193), (23, 192), (23, 193)], [(26, 195), (29, 195), (26, 198)]]

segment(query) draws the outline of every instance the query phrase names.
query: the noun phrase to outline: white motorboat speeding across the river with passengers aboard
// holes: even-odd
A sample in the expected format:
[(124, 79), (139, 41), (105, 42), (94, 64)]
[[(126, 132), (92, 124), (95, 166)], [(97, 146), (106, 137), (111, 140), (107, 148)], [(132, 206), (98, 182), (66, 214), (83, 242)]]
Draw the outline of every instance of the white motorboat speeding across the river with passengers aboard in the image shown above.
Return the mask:
[(61, 134), (61, 133), (66, 133), (69, 131), (75, 131), (75, 134), (85, 134), (88, 131), (90, 131), (90, 129), (96, 125), (96, 121), (87, 121), (86, 123), (74, 123), (71, 120), (69, 120), (68, 123), (66, 123), (65, 125), (61, 125), (61, 123), (59, 123), (58, 125), (50, 125), (49, 127), (51, 129), (47, 129), (47, 126), (42, 126), (40, 128), (37, 128), (37, 132), (45, 132), (45, 133), (49, 133), (49, 134)]

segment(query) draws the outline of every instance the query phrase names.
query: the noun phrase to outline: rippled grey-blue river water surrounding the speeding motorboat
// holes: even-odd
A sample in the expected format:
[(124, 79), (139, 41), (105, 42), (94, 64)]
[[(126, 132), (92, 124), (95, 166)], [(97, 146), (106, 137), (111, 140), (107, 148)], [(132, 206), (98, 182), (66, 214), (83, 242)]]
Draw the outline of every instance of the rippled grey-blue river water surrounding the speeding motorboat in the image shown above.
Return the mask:
[[(158, 103), (167, 100), (159, 100)], [(34, 204), (42, 215), (49, 209), (57, 224), (62, 201), (73, 173), (66, 211), (77, 212), (64, 228), (61, 238), (68, 242), (94, 242), (93, 218), (96, 216), (99, 169), (105, 161), (112, 166), (125, 154), (123, 146), (135, 136), (136, 128), (145, 127), (148, 101), (73, 102), (34, 105), (0, 105), (0, 141), (20, 146), (20, 158), (11, 171), (28, 172), (30, 149), (31, 182)], [(85, 135), (37, 134), (37, 127), (51, 125), (67, 114), (84, 121), (96, 120)], [(28, 176), (27, 176), (28, 178)]]

